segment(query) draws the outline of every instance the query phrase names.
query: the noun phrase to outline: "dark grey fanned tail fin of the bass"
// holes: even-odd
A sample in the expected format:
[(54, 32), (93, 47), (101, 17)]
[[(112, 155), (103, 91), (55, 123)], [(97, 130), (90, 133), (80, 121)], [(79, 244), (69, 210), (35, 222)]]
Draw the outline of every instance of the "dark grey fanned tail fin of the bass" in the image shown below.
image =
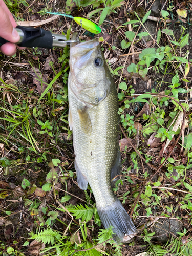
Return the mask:
[(123, 208), (121, 202), (117, 199), (113, 205), (106, 208), (97, 207), (99, 217), (105, 228), (113, 226), (114, 240), (119, 244), (123, 237), (128, 234), (137, 233), (131, 218)]

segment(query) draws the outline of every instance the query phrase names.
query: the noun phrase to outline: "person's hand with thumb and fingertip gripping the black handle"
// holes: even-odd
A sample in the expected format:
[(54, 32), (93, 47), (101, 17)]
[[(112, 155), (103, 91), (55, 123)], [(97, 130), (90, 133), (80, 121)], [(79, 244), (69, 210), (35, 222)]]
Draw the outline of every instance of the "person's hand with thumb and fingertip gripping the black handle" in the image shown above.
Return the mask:
[(12, 56), (16, 52), (16, 45), (12, 44), (18, 42), (19, 34), (14, 29), (17, 26), (11, 12), (4, 3), (0, 0), (0, 37), (10, 41), (0, 47), (0, 50), (8, 56)]

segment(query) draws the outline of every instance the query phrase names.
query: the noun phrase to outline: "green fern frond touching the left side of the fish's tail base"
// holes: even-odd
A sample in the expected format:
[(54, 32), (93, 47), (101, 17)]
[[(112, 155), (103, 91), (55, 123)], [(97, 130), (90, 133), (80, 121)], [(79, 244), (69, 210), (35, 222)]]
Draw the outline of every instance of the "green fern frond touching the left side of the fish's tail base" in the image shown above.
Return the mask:
[[(85, 220), (86, 222), (91, 220), (95, 211), (95, 207), (91, 208), (86, 205), (86, 207), (84, 208), (84, 206), (81, 204), (77, 206), (69, 205), (66, 206), (66, 209), (71, 212), (71, 214), (77, 219), (81, 219), (82, 221)], [(65, 211), (61, 208), (58, 208), (58, 210)]]

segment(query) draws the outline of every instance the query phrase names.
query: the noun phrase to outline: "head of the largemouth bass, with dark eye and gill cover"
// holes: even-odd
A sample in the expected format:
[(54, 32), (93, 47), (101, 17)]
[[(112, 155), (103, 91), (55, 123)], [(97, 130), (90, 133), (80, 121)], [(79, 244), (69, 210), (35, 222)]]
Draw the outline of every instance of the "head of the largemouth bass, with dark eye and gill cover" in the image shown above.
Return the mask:
[(68, 86), (85, 103), (97, 105), (109, 94), (110, 71), (97, 39), (70, 49)]

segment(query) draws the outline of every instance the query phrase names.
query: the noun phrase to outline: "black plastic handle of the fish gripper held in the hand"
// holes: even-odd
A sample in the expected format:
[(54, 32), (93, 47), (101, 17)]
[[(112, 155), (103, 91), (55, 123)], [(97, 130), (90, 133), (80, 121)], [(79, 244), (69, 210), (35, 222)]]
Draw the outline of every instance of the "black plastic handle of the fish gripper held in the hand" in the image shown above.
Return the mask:
[[(41, 48), (53, 48), (53, 37), (51, 32), (45, 31), (41, 28), (30, 28), (24, 26), (17, 26), (16, 28), (23, 31), (23, 40), (18, 44), (22, 47), (41, 47)], [(0, 46), (8, 42), (0, 37)]]

